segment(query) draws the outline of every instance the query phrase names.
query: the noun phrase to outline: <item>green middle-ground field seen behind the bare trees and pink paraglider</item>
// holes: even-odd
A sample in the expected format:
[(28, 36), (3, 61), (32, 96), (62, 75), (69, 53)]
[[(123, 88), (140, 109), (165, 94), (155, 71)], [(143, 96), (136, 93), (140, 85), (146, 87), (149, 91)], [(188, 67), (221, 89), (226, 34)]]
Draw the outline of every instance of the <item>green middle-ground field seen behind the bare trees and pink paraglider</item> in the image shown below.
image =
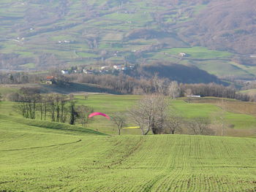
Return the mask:
[[(141, 96), (127, 96), (127, 95), (102, 95), (94, 94), (89, 95), (88, 99), (84, 99), (84, 96), (75, 96), (77, 105), (84, 104), (94, 108), (95, 112), (104, 112), (108, 115), (114, 115), (115, 113), (127, 113), (127, 110), (136, 104), (136, 101)], [(250, 109), (248, 112), (239, 111), (236, 109), (244, 108), (247, 109), (249, 106), (246, 102), (237, 101), (231, 106), (227, 106), (227, 111), (222, 113), (222, 109), (218, 107), (218, 99), (211, 99), (211, 101), (201, 100), (203, 103), (187, 103), (183, 100), (172, 101), (172, 108), (178, 112), (178, 114), (184, 116), (184, 118), (195, 118), (195, 117), (209, 117), (214, 118), (219, 114), (224, 114), (226, 119), (226, 126), (231, 127), (226, 135), (229, 136), (255, 136), (255, 105), (249, 104)], [(198, 102), (200, 102), (198, 101)], [(0, 113), (5, 115), (12, 115), (13, 117), (20, 117), (16, 110), (13, 110), (15, 103), (10, 101), (2, 101), (0, 103)], [(127, 120), (127, 126), (135, 126), (132, 120)], [(117, 134), (118, 131), (112, 121), (109, 121), (102, 117), (94, 117), (88, 125), (88, 128), (94, 129), (95, 131), (101, 131), (105, 134)], [(247, 130), (250, 130), (247, 132)], [(140, 134), (138, 129), (124, 129), (122, 134)]]

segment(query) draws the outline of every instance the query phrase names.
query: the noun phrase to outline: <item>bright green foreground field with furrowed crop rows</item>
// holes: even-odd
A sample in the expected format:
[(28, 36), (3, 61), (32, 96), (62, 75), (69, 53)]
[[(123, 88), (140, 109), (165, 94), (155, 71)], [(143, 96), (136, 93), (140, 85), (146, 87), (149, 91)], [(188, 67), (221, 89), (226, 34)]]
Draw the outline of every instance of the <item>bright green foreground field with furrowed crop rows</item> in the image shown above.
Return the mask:
[(57, 128), (0, 116), (0, 191), (256, 190), (255, 139)]

